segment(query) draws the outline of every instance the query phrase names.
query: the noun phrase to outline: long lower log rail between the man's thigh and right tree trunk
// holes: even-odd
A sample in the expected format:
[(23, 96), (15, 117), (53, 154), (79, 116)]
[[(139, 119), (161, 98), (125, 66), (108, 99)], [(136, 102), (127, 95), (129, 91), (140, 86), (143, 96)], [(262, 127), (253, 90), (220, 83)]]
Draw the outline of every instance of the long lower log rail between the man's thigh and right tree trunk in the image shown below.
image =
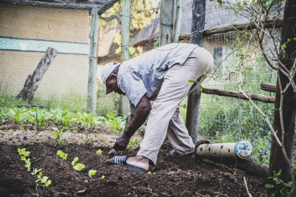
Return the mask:
[[(220, 89), (210, 89), (210, 88), (203, 88), (202, 93), (209, 94), (209, 95), (218, 95), (224, 97), (233, 97), (233, 98), (240, 98), (243, 100), (248, 100), (242, 93), (235, 92), (235, 91), (228, 91), (228, 90), (220, 90)], [(265, 103), (274, 103), (276, 98), (275, 96), (266, 96), (260, 94), (247, 94), (251, 97), (252, 100), (261, 101)]]

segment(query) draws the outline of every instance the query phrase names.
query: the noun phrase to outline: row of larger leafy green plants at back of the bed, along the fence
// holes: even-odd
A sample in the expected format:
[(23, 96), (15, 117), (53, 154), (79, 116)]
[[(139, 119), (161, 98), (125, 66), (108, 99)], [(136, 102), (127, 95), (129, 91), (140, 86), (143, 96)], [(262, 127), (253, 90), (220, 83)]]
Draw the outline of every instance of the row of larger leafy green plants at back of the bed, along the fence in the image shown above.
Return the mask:
[(98, 116), (93, 113), (72, 113), (70, 110), (54, 109), (46, 110), (39, 108), (10, 108), (5, 110), (0, 107), (0, 125), (7, 120), (7, 116), (15, 120), (15, 124), (22, 125), (27, 122), (33, 123), (37, 126), (45, 126), (49, 121), (57, 122), (61, 128), (68, 130), (69, 127), (74, 126), (75, 123), (81, 123), (87, 128), (93, 128), (96, 124), (104, 123), (108, 128), (118, 133), (120, 129), (124, 128), (125, 121), (122, 117), (115, 117), (114, 114), (107, 114), (105, 117)]

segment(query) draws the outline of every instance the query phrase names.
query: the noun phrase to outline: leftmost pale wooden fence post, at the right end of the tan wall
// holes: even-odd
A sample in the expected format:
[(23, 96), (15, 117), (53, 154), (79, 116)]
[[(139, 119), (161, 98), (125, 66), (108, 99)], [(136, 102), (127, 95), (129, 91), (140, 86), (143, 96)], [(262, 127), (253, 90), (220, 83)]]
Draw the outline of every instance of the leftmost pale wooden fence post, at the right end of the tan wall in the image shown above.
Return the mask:
[(87, 110), (96, 113), (96, 67), (98, 65), (99, 9), (91, 9), (91, 32), (89, 46), (89, 81), (87, 89)]

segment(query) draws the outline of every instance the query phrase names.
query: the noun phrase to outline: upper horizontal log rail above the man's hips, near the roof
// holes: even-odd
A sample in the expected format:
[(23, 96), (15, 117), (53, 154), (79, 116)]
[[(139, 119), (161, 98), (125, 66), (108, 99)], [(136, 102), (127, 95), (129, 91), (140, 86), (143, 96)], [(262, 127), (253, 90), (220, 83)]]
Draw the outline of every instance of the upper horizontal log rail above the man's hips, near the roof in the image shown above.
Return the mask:
[[(255, 29), (256, 25), (255, 22), (240, 22), (240, 23), (235, 23), (230, 24), (230, 25), (224, 25), (220, 26), (220, 27), (213, 27), (211, 29), (205, 30), (203, 36), (210, 36), (210, 35), (214, 35), (214, 34), (218, 34), (218, 33), (226, 33), (226, 32), (231, 32), (235, 28), (237, 28), (238, 30), (251, 30), (251, 29)], [(268, 20), (266, 22), (266, 28), (280, 28), (282, 26), (282, 20)], [(186, 40), (188, 38), (190, 38), (191, 34), (181, 34), (180, 35), (180, 40)]]

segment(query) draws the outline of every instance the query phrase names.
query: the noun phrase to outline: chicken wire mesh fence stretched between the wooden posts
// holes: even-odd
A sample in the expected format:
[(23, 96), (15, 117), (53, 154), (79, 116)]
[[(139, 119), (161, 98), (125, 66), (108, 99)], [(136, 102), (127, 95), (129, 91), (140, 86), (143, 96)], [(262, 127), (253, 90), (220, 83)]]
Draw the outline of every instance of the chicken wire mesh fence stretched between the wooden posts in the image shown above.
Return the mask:
[[(24, 87), (28, 75), (33, 74), (47, 48), (51, 47), (57, 50), (57, 55), (38, 81), (38, 88), (31, 103), (48, 105), (51, 102), (54, 108), (87, 110), (91, 11), (82, 9), (81, 6), (96, 4), (105, 8), (104, 12), (99, 12), (96, 113), (118, 113), (120, 98), (115, 93), (104, 95), (100, 72), (102, 66), (108, 62), (121, 61), (122, 1), (67, 1), (69, 5), (80, 5), (79, 9), (77, 6), (57, 8), (52, 2), (58, 1), (42, 1), (47, 6), (41, 1), (30, 5), (12, 4), (14, 1), (8, 0), (4, 2), (6, 3), (0, 3), (1, 104), (7, 107), (27, 104), (16, 96)], [(192, 1), (183, 0), (182, 5), (181, 34), (188, 34), (191, 33), (192, 25)], [(168, 8), (169, 6), (174, 4), (167, 5)], [(228, 25), (248, 20), (231, 10), (217, 7), (216, 1), (207, 1), (205, 28), (217, 23)], [(131, 1), (129, 11), (128, 58), (133, 58), (158, 46), (160, 1)], [(210, 51), (214, 58), (214, 70), (211, 73), (213, 76), (228, 73), (237, 64), (239, 52), (235, 50), (234, 42), (231, 42), (236, 37), (235, 32), (229, 32), (204, 38), (203, 47)], [(269, 69), (257, 49), (254, 48), (251, 52), (250, 61), (246, 65), (249, 69), (248, 92), (275, 95), (263, 92), (260, 83), (276, 84), (276, 73)], [(239, 83), (238, 79), (210, 79), (202, 86), (236, 91)], [(186, 104), (186, 99), (180, 104), (184, 120)], [(256, 104), (272, 121), (274, 104)], [(261, 159), (269, 157), (270, 129), (265, 119), (246, 100), (202, 94), (198, 135), (213, 142), (249, 139), (258, 147), (255, 150)]]

